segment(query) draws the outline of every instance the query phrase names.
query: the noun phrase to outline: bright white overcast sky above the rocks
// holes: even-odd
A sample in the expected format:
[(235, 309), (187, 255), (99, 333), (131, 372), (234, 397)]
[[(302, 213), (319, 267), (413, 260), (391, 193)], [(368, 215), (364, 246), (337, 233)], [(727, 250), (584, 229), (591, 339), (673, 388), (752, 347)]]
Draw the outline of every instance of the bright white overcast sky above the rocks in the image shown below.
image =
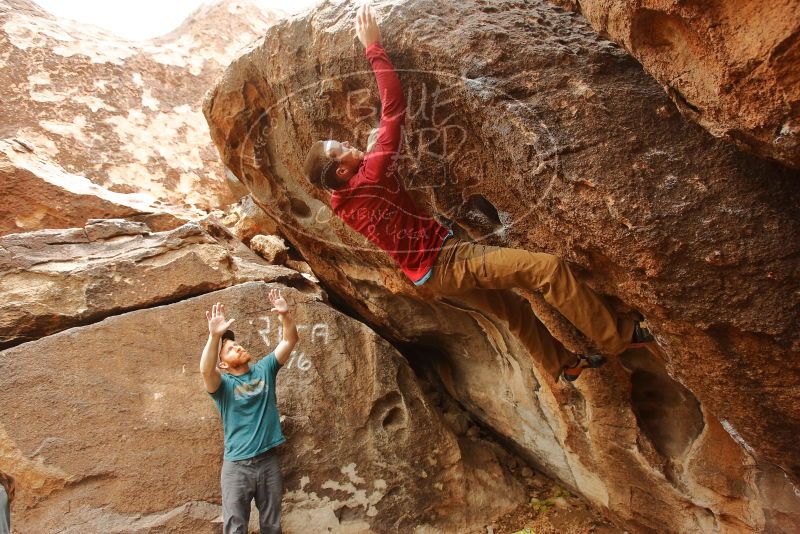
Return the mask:
[[(175, 29), (208, 0), (34, 0), (59, 18), (86, 22), (127, 39), (151, 39)], [(266, 9), (296, 13), (321, 0), (251, 0)]]

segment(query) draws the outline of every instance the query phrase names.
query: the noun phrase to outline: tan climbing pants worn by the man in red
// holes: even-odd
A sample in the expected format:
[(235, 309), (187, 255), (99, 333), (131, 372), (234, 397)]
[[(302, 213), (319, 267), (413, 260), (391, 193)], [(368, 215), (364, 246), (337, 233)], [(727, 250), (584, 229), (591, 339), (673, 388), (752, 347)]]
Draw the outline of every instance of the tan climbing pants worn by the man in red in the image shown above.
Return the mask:
[(540, 291), (544, 299), (603, 352), (619, 354), (633, 334), (633, 321), (617, 316), (602, 298), (577, 280), (557, 256), (492, 247), (449, 238), (425, 282), (434, 293), (457, 296), (508, 324), (554, 379), (573, 365), (569, 352), (533, 313), (527, 299), (500, 289)]

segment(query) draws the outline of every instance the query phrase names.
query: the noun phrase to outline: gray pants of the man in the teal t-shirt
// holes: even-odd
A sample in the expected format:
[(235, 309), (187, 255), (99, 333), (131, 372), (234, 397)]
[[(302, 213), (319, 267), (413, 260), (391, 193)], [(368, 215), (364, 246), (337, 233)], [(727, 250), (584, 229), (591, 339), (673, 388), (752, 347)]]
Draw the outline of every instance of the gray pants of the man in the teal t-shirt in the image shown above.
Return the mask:
[(281, 534), (283, 477), (275, 449), (247, 460), (223, 461), (220, 486), (225, 534), (247, 534), (253, 499), (261, 534)]

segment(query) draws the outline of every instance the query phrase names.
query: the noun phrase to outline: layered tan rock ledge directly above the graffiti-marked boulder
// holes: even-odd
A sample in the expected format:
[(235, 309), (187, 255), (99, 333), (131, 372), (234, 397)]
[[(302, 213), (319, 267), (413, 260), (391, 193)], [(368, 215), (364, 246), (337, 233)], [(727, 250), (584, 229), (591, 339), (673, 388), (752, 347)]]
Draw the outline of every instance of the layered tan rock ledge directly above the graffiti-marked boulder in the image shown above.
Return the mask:
[(213, 219), (156, 233), (112, 219), (10, 234), (0, 238), (0, 346), (250, 280), (304, 284)]

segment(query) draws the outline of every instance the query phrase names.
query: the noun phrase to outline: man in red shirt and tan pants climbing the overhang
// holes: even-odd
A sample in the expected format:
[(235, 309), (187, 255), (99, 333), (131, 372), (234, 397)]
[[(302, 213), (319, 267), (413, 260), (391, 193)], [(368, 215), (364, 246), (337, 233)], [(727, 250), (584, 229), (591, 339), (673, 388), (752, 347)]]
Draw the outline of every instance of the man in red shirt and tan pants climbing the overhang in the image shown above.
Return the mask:
[(415, 285), (425, 284), (440, 296), (457, 295), (506, 321), (554, 379), (560, 375), (573, 381), (605, 358), (569, 352), (525, 299), (510, 291), (485, 290), (541, 291), (607, 354), (652, 341), (646, 329), (618, 316), (556, 256), (462, 241), (413, 202), (394, 172), (406, 111), (400, 80), (380, 45), (380, 30), (368, 4), (359, 7), (355, 26), (378, 83), (381, 121), (375, 146), (367, 154), (347, 141), (334, 140), (317, 141), (309, 150), (306, 175), (331, 192), (333, 212), (387, 252)]

